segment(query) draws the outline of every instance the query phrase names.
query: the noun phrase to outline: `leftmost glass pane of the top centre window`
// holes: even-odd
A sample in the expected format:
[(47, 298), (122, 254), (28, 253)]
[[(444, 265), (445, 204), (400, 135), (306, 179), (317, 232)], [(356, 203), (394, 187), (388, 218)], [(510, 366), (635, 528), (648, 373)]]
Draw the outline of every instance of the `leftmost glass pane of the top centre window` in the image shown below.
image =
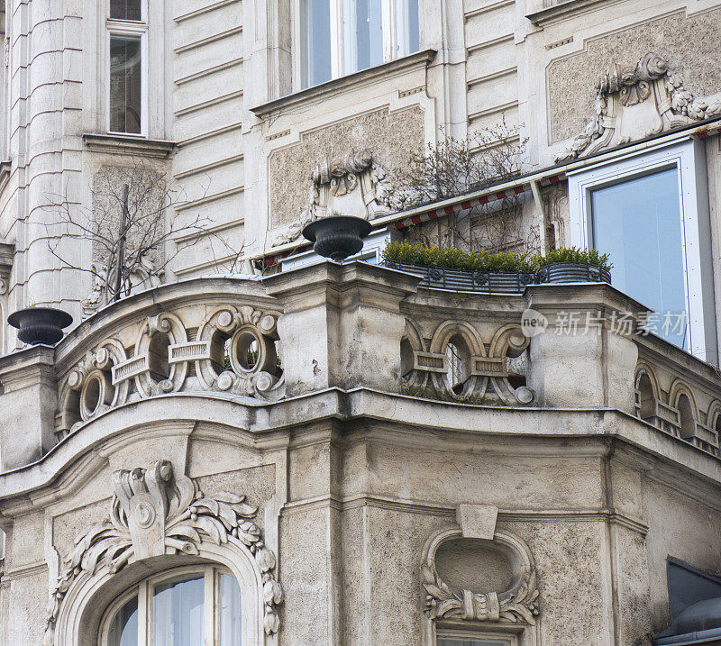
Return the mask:
[(331, 78), (330, 0), (301, 0), (300, 29), (301, 83), (304, 87), (316, 86)]

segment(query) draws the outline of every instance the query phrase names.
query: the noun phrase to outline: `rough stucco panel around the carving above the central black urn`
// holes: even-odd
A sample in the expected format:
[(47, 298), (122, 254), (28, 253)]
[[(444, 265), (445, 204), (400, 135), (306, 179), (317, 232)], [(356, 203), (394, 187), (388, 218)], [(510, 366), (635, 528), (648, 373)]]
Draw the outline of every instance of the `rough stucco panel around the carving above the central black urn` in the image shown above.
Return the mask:
[(300, 217), (310, 189), (308, 176), (325, 155), (342, 157), (351, 148), (367, 148), (390, 170), (406, 164), (423, 142), (424, 114), (417, 106), (394, 113), (385, 108), (306, 132), (297, 145), (269, 157), (269, 228)]

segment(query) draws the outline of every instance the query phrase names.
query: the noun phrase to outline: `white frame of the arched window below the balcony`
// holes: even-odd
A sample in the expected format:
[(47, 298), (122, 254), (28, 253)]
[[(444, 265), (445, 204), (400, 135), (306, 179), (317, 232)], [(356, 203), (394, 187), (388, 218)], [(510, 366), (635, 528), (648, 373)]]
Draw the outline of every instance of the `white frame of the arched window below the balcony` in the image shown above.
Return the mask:
[[(233, 577), (233, 572), (230, 569), (214, 566), (214, 565), (196, 565), (186, 566), (181, 568), (169, 569), (162, 574), (154, 577), (143, 579), (139, 584), (136, 584), (122, 595), (119, 595), (113, 604), (109, 605), (105, 610), (103, 619), (100, 622), (100, 634), (98, 643), (101, 646), (107, 646), (108, 643), (108, 632), (110, 631), (110, 624), (113, 622), (115, 614), (128, 601), (134, 596), (138, 597), (138, 644), (139, 646), (152, 646), (152, 597), (153, 587), (159, 583), (168, 581), (175, 578), (191, 578), (193, 575), (203, 575), (205, 585), (205, 601), (204, 601), (204, 643), (205, 644), (218, 644), (220, 643), (220, 613), (216, 612), (216, 607), (220, 603), (220, 575), (226, 574)], [(240, 586), (240, 582), (238, 583)], [(208, 603), (210, 599), (210, 603)], [(245, 603), (241, 595), (241, 608)], [(242, 613), (244, 615), (244, 613)], [(145, 621), (141, 619), (145, 617)], [(241, 643), (254, 643), (248, 640), (246, 634), (247, 628), (245, 623), (245, 616), (242, 616), (242, 639)]]

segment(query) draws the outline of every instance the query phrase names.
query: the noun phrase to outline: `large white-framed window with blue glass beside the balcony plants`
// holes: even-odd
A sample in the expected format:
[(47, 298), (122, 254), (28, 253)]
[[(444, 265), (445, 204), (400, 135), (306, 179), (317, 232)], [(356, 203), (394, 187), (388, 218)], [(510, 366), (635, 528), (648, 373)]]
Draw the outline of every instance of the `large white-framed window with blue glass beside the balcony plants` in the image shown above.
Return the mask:
[(569, 173), (571, 242), (610, 255), (648, 332), (717, 364), (706, 172), (689, 139)]

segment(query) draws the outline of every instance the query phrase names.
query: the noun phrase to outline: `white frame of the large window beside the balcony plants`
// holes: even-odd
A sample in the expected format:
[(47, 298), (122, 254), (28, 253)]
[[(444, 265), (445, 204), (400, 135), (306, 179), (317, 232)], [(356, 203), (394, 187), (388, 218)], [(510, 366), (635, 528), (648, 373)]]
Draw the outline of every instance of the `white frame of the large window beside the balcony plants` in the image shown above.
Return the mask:
[(670, 168), (677, 169), (679, 178), (683, 283), (689, 314), (689, 352), (698, 359), (718, 365), (707, 166), (701, 141), (689, 137), (642, 152), (619, 155), (616, 159), (567, 173), (570, 242), (573, 246), (584, 249), (591, 245), (592, 191)]

